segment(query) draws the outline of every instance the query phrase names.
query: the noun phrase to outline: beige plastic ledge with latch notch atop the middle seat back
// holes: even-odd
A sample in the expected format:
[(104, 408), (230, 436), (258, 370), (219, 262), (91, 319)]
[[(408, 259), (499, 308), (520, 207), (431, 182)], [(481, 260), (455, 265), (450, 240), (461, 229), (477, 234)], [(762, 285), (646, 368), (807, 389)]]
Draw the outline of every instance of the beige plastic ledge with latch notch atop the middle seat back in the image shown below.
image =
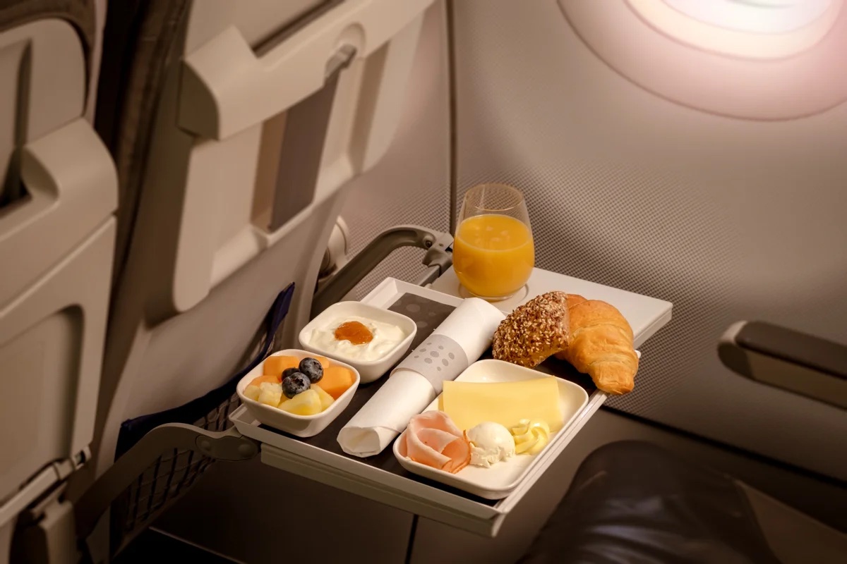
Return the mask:
[(262, 57), (229, 27), (185, 58), (180, 126), (224, 139), (272, 118), (324, 85), (339, 47), (368, 57), (432, 2), (347, 0)]

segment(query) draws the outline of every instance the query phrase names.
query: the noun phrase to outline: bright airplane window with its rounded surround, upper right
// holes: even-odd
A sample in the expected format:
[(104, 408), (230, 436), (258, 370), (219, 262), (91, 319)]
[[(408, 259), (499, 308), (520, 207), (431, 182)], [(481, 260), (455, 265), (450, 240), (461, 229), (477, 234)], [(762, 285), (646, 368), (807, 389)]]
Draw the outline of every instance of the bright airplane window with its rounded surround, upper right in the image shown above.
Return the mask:
[(803, 118), (847, 101), (847, 0), (558, 0), (596, 57), (686, 107)]

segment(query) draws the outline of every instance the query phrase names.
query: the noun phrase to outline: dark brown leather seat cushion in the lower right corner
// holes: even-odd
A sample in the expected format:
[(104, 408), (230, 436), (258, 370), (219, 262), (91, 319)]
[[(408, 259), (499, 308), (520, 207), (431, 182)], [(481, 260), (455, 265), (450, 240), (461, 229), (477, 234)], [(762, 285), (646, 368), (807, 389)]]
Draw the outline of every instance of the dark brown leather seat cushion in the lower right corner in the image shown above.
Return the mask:
[(601, 446), (520, 564), (840, 562), (847, 535), (644, 441)]

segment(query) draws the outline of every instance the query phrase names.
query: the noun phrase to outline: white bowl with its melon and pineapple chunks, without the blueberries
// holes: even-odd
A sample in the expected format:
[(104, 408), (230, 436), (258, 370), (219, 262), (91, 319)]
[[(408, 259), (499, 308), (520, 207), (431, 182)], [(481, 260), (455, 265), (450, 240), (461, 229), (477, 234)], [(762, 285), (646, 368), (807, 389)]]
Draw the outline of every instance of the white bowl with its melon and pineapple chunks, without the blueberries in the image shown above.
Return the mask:
[[(295, 367), (296, 364), (299, 364), (302, 359), (307, 357), (318, 359), (324, 372), (321, 380), (318, 381), (318, 384), (313, 384), (312, 389), (309, 390), (309, 392), (317, 392), (316, 395), (320, 398), (319, 401), (321, 407), (324, 406), (324, 402), (329, 401), (329, 397), (332, 397), (333, 401), (329, 403), (329, 406), (325, 407), (323, 411), (311, 415), (290, 413), (283, 409), (269, 405), (268, 402), (273, 402), (274, 394), (276, 393), (274, 389), (274, 379), (276, 382), (279, 382), (279, 375), (283, 370)], [(260, 390), (264, 392), (265, 395), (258, 397), (258, 400), (263, 401), (257, 401), (257, 399), (254, 398), (254, 393), (245, 395), (247, 386), (250, 386), (252, 381), (256, 380), (260, 376), (266, 377), (267, 381), (264, 383), (268, 384), (265, 388), (260, 386)], [(291, 433), (291, 435), (308, 437), (317, 435), (322, 430), (326, 429), (327, 425), (332, 423), (333, 419), (338, 417), (339, 413), (344, 411), (350, 403), (353, 394), (356, 393), (360, 380), (361, 378), (358, 370), (353, 368), (350, 364), (339, 362), (337, 360), (326, 359), (325, 357), (320, 357), (299, 348), (287, 348), (271, 354), (267, 359), (263, 360), (262, 364), (259, 364), (256, 368), (247, 373), (246, 376), (241, 378), (241, 381), (238, 382), (238, 386), (235, 386), (235, 392), (237, 392), (238, 397), (241, 398), (241, 403), (243, 403), (252, 416), (258, 419), (262, 424), (266, 424), (268, 427), (273, 427), (274, 429), (285, 431), (286, 433)], [(321, 390), (315, 390), (316, 386), (319, 386)], [(345, 386), (346, 389), (344, 389)], [(256, 391), (252, 390), (251, 392)], [(297, 397), (300, 397), (300, 394), (295, 396), (295, 398)], [(309, 399), (313, 398), (314, 395), (310, 394)], [(286, 399), (285, 395), (280, 397), (280, 401), (285, 401)], [(288, 401), (291, 402), (294, 400)], [(310, 402), (298, 402), (298, 405), (301, 405), (301, 403), (302, 409), (306, 411), (311, 410), (312, 408), (317, 408), (317, 404)]]

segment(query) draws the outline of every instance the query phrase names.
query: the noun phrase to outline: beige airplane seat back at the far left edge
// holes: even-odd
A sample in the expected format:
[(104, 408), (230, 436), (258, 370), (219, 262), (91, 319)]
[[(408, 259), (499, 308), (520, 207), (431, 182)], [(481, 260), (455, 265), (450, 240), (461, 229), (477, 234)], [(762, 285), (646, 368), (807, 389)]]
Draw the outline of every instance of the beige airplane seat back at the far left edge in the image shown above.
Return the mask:
[(72, 527), (62, 493), (90, 458), (117, 205), (86, 119), (98, 16), (86, 0), (0, 6), (0, 562), (16, 528)]

